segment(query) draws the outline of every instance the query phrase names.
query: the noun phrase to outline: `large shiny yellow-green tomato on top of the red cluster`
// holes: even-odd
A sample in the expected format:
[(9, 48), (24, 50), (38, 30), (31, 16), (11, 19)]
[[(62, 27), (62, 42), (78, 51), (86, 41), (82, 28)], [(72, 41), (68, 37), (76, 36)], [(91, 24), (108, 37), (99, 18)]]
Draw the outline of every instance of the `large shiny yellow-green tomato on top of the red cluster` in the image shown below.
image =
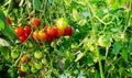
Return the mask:
[(66, 29), (66, 26), (68, 26), (68, 22), (66, 19), (61, 18), (57, 20), (56, 26), (57, 26), (57, 29)]

